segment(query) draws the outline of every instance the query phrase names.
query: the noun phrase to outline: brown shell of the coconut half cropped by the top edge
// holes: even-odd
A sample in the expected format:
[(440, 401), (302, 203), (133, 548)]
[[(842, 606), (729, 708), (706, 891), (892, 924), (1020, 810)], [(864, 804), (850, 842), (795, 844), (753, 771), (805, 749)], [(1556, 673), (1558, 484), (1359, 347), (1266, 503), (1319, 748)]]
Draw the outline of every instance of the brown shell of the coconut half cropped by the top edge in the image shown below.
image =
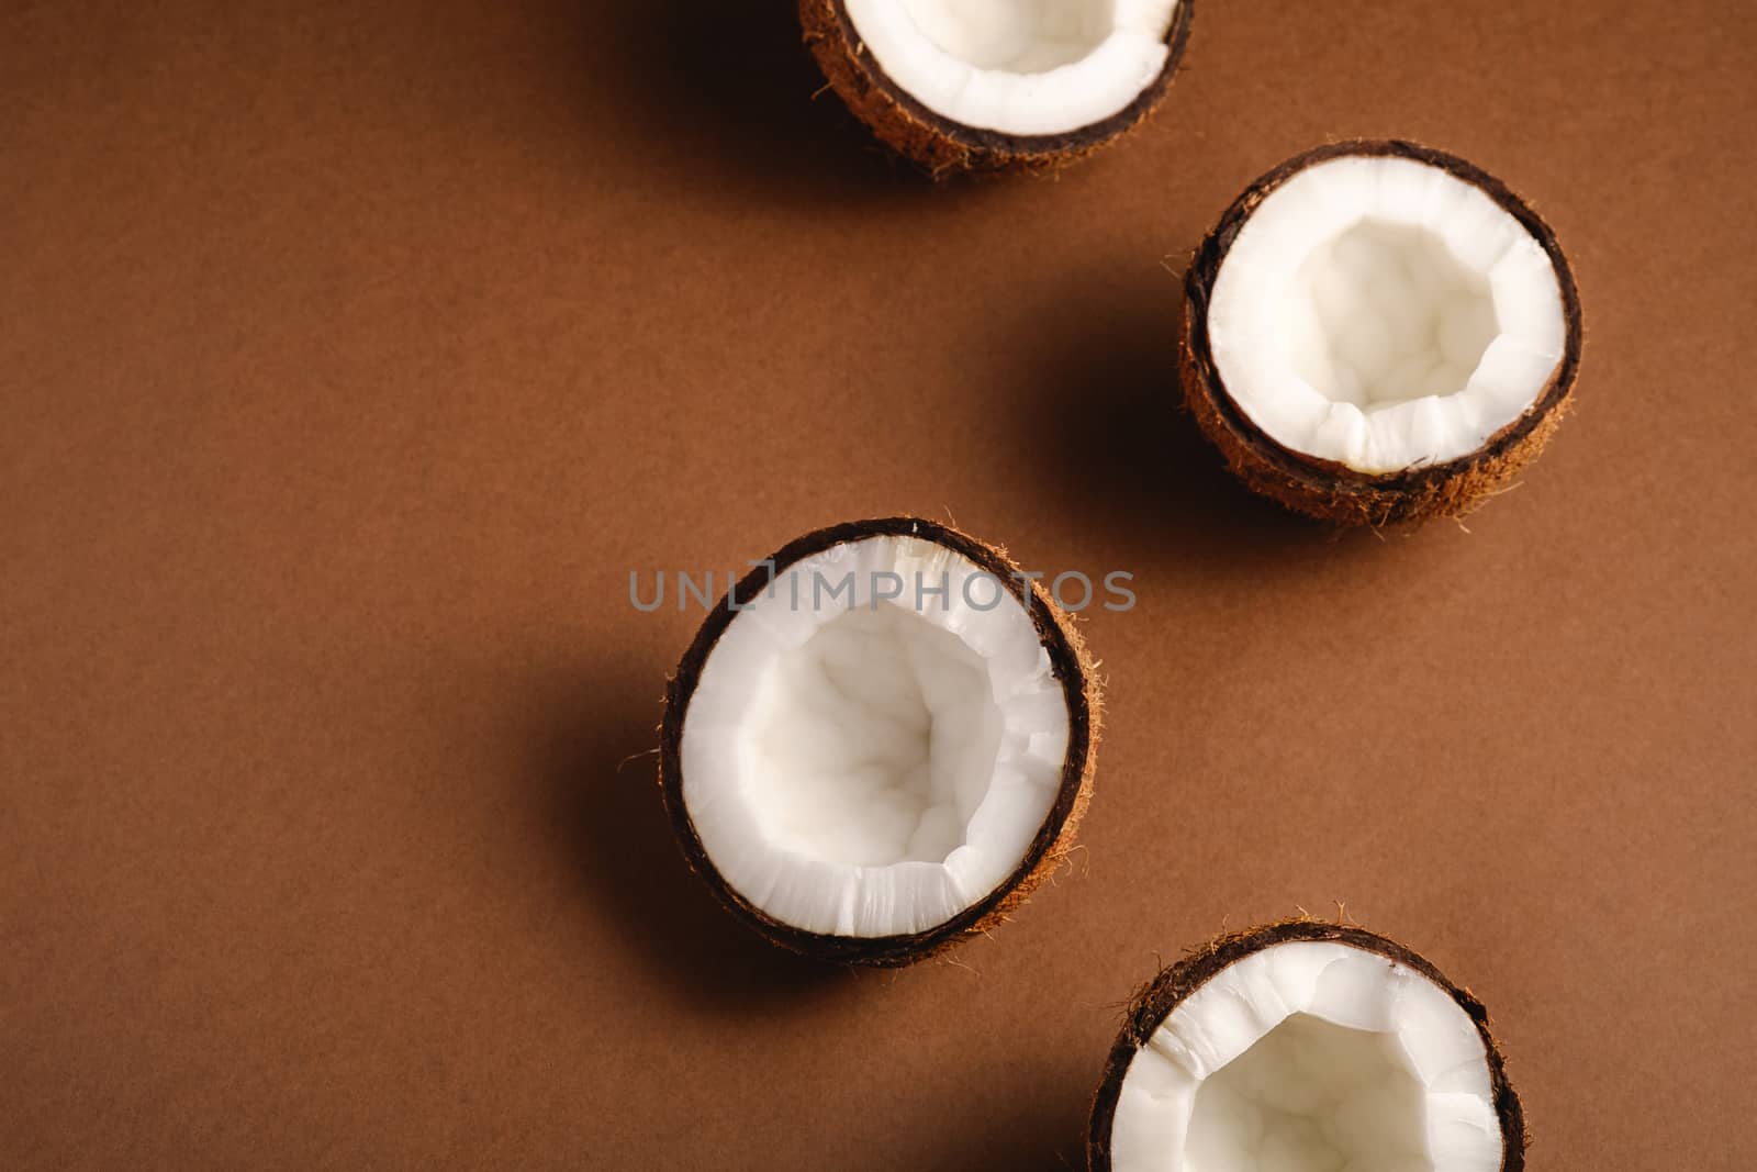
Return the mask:
[(799, 0), (805, 44), (829, 86), (880, 141), (935, 177), (966, 170), (1059, 170), (1133, 130), (1170, 90), (1189, 40), (1195, 0), (1182, 0), (1167, 30), (1158, 77), (1133, 102), (1102, 121), (1047, 135), (1012, 135), (945, 118), (898, 86), (866, 51), (843, 0)]

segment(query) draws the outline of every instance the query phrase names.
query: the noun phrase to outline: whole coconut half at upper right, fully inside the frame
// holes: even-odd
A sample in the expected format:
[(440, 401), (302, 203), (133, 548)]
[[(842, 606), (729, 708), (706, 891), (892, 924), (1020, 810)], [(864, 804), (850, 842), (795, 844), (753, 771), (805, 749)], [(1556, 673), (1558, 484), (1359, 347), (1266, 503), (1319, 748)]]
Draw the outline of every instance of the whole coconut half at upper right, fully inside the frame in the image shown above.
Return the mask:
[(1341, 524), (1469, 511), (1580, 367), (1555, 234), (1471, 163), (1323, 146), (1253, 183), (1184, 281), (1184, 401), (1253, 490)]

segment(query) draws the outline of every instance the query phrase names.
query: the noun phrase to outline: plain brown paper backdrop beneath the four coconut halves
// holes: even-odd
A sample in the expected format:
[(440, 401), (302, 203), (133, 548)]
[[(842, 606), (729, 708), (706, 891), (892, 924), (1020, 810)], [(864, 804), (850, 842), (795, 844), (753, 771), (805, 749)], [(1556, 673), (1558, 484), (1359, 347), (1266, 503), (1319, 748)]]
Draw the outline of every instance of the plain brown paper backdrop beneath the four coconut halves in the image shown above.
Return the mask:
[[(785, 4), (5, 5), (0, 1165), (1054, 1172), (1161, 958), (1337, 901), (1532, 1167), (1757, 1165), (1753, 12), (1204, 0), (1133, 139), (935, 188)], [(1167, 265), (1342, 135), (1581, 281), (1469, 532), (1170, 411)], [(845, 975), (687, 877), (631, 754), (699, 613), (627, 578), (894, 511), (1139, 606), (1077, 865)]]

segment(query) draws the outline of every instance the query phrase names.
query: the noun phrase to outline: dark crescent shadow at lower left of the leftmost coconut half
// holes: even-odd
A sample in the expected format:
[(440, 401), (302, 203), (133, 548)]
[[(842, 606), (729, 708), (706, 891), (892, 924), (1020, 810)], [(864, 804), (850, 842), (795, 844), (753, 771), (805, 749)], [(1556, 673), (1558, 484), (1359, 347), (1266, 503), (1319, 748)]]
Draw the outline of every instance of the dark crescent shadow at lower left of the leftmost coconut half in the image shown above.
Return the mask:
[[(604, 912), (655, 995), (680, 1010), (745, 1014), (850, 988), (842, 968), (794, 956), (727, 915), (689, 872), (659, 799), (657, 692), (631, 687), (638, 669), (552, 689), (539, 777), (553, 847), (578, 866), (585, 898)], [(652, 752), (647, 752), (652, 750)]]

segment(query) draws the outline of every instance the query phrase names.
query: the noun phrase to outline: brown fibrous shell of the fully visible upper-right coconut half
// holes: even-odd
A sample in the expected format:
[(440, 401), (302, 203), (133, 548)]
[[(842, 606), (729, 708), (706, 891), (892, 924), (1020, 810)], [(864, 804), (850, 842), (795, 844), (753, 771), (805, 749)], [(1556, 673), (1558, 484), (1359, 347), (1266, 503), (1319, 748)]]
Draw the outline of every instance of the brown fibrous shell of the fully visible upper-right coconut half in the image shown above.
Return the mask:
[[(1400, 156), (1441, 167), (1483, 190), (1532, 234), (1555, 265), (1562, 290), (1562, 316), (1567, 339), (1562, 360), (1536, 402), (1516, 420), (1488, 438), (1476, 452), (1446, 464), (1420, 466), (1395, 473), (1360, 473), (1334, 460), (1320, 460), (1293, 452), (1265, 436), (1244, 415), (1226, 390), (1209, 344), (1207, 309), (1221, 264), (1239, 237), (1239, 230), (1270, 192), (1312, 163), (1341, 155)], [(1184, 404), (1195, 416), (1226, 467), (1253, 492), (1286, 508), (1339, 525), (1385, 525), (1428, 517), (1458, 517), (1472, 511), (1504, 490), (1513, 478), (1537, 459), (1562, 415), (1571, 406), (1574, 376), (1580, 371), (1581, 318), (1574, 274), (1557, 244), (1555, 232), (1518, 195), (1478, 167), (1400, 141), (1332, 142), (1281, 163), (1246, 188), (1219, 218), (1197, 250), (1184, 278), (1182, 320), (1179, 325), (1179, 381)]]

